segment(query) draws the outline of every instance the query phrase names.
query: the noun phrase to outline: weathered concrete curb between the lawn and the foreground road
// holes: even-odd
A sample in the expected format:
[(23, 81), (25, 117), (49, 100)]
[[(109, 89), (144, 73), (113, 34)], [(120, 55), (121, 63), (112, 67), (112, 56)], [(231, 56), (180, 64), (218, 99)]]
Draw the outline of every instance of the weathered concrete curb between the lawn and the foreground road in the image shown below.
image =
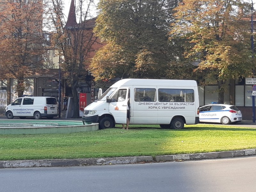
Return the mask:
[(242, 157), (242, 156), (253, 156), (253, 155), (256, 155), (256, 149), (244, 149), (244, 150), (212, 152), (212, 153), (164, 155), (164, 156), (156, 156), (155, 158), (152, 156), (135, 156), (135, 157), (109, 157), (109, 158), (88, 158), (88, 159), (17, 160), (17, 161), (0, 161), (0, 168), (156, 163), (156, 162), (167, 162), (167, 161), (218, 159), (218, 158)]

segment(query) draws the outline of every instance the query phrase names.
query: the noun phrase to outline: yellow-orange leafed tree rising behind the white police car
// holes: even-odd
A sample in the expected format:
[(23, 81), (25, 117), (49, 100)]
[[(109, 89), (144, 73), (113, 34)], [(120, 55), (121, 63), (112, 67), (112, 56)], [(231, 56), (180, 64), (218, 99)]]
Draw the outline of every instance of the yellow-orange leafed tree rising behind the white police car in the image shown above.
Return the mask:
[(225, 83), (252, 76), (255, 68), (250, 20), (244, 14), (249, 8), (240, 0), (183, 0), (175, 9), (171, 39), (185, 40), (184, 56), (201, 61), (195, 72), (202, 73), (201, 84), (218, 84), (220, 103)]

